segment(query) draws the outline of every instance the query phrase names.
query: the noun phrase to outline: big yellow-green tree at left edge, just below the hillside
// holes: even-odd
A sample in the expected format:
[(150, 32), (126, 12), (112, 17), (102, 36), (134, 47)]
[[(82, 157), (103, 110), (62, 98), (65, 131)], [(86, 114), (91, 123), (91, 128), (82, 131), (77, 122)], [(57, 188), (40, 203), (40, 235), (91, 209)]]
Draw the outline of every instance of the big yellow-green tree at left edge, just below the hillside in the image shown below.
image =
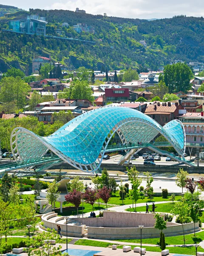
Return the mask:
[(17, 76), (14, 78), (5, 77), (0, 81), (0, 101), (16, 105), (18, 109), (26, 105), (26, 96), (31, 90), (31, 87)]

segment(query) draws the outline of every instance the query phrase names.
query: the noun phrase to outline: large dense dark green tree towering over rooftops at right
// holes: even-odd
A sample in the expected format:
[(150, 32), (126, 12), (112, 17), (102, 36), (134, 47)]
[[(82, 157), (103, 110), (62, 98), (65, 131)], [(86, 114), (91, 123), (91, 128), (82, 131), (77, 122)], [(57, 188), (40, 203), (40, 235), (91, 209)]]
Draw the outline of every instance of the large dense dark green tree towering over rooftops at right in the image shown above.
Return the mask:
[(187, 92), (190, 88), (190, 79), (193, 73), (187, 64), (177, 63), (164, 67), (164, 83), (168, 86), (170, 93), (182, 91)]

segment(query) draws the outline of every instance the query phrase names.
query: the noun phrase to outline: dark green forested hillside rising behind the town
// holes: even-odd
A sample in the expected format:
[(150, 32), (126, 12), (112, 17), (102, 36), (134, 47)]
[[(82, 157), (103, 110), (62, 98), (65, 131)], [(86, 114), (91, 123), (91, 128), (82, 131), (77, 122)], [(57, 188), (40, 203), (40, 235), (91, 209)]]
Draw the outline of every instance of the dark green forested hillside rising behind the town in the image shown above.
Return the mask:
[[(94, 41), (85, 44), (36, 35), (20, 35), (2, 31), (8, 29), (8, 21), (29, 14), (45, 16), (48, 21), (47, 35), (57, 36), (56, 29), (62, 29), (62, 36)], [(62, 28), (62, 22), (70, 26)], [(77, 23), (94, 26), (95, 34), (83, 32), (79, 35), (72, 29)], [(204, 19), (203, 17), (177, 16), (170, 19), (139, 20), (75, 13), (65, 10), (30, 9), (0, 17), (0, 71), (9, 67), (21, 68), (31, 73), (31, 60), (35, 55), (60, 61), (70, 69), (85, 66), (94, 70), (145, 67), (157, 70), (168, 61), (204, 62)], [(139, 44), (145, 40), (147, 47)]]

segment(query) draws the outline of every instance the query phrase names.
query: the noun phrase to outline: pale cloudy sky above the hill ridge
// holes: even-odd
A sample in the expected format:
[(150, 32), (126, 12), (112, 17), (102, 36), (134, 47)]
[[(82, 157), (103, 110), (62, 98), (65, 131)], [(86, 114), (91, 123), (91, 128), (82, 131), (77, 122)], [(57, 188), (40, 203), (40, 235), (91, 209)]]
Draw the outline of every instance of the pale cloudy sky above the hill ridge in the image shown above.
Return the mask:
[(187, 15), (204, 15), (203, 0), (1, 0), (1, 4), (17, 6), (28, 10), (64, 9), (75, 11), (76, 7), (91, 14), (116, 17), (152, 19)]

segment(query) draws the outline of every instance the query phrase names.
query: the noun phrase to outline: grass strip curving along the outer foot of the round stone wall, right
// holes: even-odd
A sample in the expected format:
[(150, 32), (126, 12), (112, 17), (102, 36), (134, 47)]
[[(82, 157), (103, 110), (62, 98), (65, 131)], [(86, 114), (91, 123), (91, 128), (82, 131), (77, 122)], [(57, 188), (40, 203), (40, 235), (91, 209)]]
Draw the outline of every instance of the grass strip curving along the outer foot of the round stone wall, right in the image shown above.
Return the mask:
[[(185, 243), (186, 244), (199, 244), (201, 241), (204, 240), (204, 231), (197, 232), (190, 235), (185, 235)], [(116, 240), (119, 242), (127, 242), (127, 243), (140, 243), (140, 239), (124, 239), (124, 240)], [(177, 244), (184, 244), (184, 237), (183, 236), (167, 236), (165, 237), (166, 245), (177, 245)], [(155, 244), (159, 245), (159, 238), (146, 238), (142, 239), (143, 244)]]

